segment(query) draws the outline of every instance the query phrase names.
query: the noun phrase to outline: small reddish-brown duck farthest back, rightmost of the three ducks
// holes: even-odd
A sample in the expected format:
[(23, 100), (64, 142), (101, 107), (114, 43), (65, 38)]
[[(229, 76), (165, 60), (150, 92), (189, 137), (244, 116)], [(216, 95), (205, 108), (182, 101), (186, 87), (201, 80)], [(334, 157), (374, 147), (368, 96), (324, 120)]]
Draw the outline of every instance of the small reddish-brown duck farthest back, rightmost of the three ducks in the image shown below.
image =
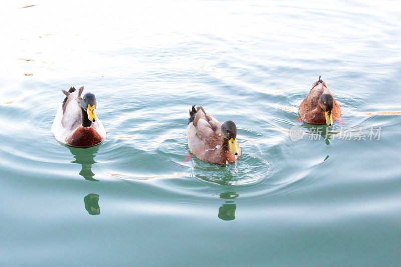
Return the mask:
[(312, 84), (309, 94), (299, 106), (299, 116), (309, 124), (333, 125), (341, 115), (337, 101), (327, 89), (327, 84), (320, 79)]

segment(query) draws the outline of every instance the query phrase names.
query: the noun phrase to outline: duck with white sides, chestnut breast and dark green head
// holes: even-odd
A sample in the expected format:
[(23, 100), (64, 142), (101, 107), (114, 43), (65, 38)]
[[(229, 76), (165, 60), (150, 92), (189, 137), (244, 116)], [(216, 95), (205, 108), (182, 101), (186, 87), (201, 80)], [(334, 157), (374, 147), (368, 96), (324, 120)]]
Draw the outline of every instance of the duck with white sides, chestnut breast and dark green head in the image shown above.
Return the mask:
[(52, 132), (63, 144), (87, 148), (100, 144), (106, 138), (106, 130), (95, 112), (95, 95), (86, 93), (81, 97), (83, 91), (83, 86), (62, 90), (65, 98), (57, 110)]

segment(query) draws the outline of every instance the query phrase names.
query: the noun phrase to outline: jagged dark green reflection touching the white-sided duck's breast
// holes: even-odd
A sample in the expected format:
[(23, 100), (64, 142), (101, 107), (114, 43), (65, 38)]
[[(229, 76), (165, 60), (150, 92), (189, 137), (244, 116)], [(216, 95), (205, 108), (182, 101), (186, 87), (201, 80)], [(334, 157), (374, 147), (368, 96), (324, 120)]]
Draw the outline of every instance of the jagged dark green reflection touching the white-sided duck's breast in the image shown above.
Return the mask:
[(73, 154), (75, 158), (75, 160), (71, 162), (79, 163), (82, 165), (82, 169), (79, 174), (88, 181), (98, 182), (99, 180), (93, 178), (95, 174), (92, 172), (91, 168), (92, 164), (96, 162), (94, 158), (96, 157), (96, 153), (99, 150), (99, 146), (93, 146), (89, 148), (77, 148), (71, 146), (67, 147), (68, 149), (70, 149), (71, 154)]

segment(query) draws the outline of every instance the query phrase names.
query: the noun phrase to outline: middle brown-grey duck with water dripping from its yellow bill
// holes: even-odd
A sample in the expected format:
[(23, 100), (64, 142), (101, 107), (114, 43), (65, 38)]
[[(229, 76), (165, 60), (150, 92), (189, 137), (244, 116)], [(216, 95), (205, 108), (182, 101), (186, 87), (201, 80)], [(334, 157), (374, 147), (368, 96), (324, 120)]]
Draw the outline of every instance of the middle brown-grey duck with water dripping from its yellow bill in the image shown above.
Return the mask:
[(235, 162), (241, 156), (237, 143), (237, 126), (233, 121), (223, 125), (206, 113), (203, 107), (192, 106), (186, 128), (188, 147), (198, 159), (214, 164)]

